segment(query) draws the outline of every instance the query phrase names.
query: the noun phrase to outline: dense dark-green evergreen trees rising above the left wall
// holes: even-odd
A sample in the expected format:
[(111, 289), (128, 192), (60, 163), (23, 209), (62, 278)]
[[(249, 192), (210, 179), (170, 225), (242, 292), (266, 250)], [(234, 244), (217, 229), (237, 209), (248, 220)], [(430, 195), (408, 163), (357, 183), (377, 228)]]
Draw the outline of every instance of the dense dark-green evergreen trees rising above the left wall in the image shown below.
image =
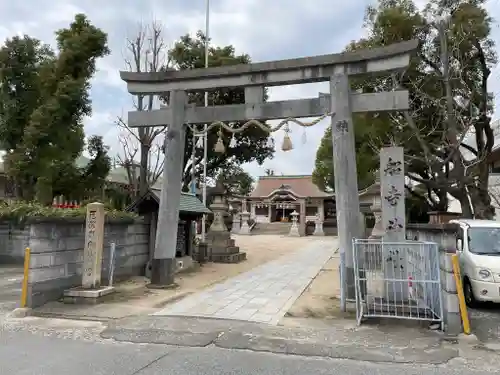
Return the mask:
[(92, 112), (88, 89), (107, 36), (83, 14), (56, 32), (58, 53), (29, 36), (0, 50), (0, 143), (6, 172), (25, 199), (52, 202), (62, 166), (84, 148), (83, 118)]

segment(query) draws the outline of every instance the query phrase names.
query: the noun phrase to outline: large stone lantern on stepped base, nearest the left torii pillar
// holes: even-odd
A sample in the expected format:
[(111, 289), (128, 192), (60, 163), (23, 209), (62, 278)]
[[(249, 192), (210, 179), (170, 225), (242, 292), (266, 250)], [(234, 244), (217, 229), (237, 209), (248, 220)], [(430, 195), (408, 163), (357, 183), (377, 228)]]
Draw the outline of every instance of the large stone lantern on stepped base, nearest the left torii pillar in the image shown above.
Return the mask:
[(239, 263), (246, 259), (246, 253), (240, 252), (224, 223), (229, 208), (226, 189), (221, 183), (217, 183), (211, 194), (213, 202), (210, 210), (214, 214), (214, 219), (207, 233), (209, 259), (215, 263)]

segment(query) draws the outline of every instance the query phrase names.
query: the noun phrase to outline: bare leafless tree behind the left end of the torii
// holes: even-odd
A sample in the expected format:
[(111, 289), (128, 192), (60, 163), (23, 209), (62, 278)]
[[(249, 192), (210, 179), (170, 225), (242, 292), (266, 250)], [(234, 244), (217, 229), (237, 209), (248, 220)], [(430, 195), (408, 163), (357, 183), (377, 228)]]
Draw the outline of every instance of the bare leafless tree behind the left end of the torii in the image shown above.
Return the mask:
[[(161, 23), (141, 24), (135, 37), (127, 40), (125, 64), (131, 72), (159, 72), (170, 65), (166, 52)], [(155, 104), (154, 95), (134, 97), (136, 111), (151, 111)], [(123, 130), (120, 164), (127, 171), (130, 191), (133, 196), (144, 195), (148, 187), (156, 183), (163, 169), (161, 146), (165, 128), (130, 128), (123, 117), (118, 117), (116, 124)], [(137, 152), (139, 163), (136, 162)]]

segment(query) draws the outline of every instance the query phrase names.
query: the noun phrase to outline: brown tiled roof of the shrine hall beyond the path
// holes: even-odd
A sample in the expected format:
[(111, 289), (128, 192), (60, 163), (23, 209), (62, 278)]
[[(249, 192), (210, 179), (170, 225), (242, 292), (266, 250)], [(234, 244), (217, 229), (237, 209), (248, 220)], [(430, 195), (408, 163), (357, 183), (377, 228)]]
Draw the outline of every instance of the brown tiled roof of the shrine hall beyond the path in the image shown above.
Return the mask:
[(267, 197), (275, 190), (289, 190), (299, 197), (331, 197), (333, 194), (321, 191), (313, 182), (312, 176), (262, 176), (250, 197)]

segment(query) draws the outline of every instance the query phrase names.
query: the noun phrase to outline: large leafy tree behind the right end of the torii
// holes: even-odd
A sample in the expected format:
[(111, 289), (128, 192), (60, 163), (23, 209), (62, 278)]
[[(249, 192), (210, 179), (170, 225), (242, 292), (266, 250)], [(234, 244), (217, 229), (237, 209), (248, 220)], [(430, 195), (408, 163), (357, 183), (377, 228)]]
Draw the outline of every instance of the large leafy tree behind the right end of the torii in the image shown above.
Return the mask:
[[(496, 55), (484, 2), (431, 0), (419, 11), (411, 0), (379, 0), (367, 10), (368, 37), (348, 46), (356, 50), (421, 41), (404, 75), (353, 82), (353, 89), (364, 92), (406, 88), (411, 111), (369, 114), (368, 122), (355, 119), (355, 126), (377, 119), (383, 125), (371, 126), (374, 149), (405, 146), (406, 173), (413, 181), (407, 189), (412, 196), (434, 210), (446, 210), (449, 194), (461, 203), (465, 217), (476, 218), (493, 214), (488, 156), (494, 139), (487, 79)], [(467, 157), (465, 150), (473, 156)]]

